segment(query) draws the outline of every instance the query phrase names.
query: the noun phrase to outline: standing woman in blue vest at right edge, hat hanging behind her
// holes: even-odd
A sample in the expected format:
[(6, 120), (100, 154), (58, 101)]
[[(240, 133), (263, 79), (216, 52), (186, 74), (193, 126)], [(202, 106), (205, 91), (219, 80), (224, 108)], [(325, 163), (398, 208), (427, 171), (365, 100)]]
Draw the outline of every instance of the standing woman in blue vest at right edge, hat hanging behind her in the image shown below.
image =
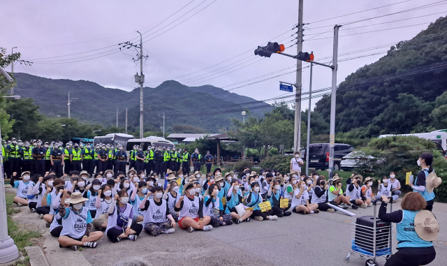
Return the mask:
[[(432, 167), (433, 155), (430, 154), (430, 152), (420, 154), (417, 163), (422, 170), (418, 172), (418, 176), (414, 180), (414, 184), (410, 183), (409, 186), (413, 189), (413, 192), (420, 193), (420, 195), (423, 196), (423, 198), (427, 201), (426, 209), (432, 212), (434, 203), (433, 189), (441, 184), (441, 179), (436, 177), (436, 175), (430, 175), (432, 172), (434, 174)], [(428, 182), (429, 176), (430, 182)]]

